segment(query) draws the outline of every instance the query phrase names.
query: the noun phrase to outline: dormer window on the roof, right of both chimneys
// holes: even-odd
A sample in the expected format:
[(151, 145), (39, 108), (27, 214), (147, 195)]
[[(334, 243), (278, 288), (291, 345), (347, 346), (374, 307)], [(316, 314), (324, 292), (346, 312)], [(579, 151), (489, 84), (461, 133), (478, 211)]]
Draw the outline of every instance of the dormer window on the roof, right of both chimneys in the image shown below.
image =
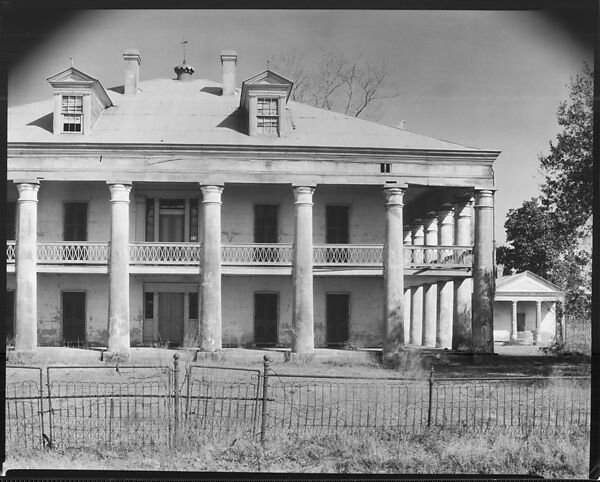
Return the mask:
[(248, 115), (248, 135), (283, 137), (286, 134), (286, 103), (293, 82), (272, 70), (242, 83), (240, 107)]

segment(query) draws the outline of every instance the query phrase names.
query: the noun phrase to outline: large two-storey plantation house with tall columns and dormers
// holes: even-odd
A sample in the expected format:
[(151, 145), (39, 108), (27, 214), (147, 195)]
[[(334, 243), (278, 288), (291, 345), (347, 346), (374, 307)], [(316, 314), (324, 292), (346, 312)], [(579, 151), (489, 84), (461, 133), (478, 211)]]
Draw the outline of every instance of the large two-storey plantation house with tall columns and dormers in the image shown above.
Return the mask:
[(270, 70), (239, 88), (233, 51), (222, 83), (123, 58), (123, 86), (70, 67), (9, 109), (16, 350), (493, 351), (498, 151), (293, 102)]

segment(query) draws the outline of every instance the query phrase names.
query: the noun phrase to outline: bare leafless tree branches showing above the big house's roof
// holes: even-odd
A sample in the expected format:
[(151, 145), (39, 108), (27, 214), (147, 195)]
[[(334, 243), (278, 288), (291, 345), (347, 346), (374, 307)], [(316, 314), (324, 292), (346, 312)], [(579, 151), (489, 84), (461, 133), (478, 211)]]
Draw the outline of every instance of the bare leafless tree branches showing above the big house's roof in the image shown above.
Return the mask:
[(307, 60), (293, 50), (272, 62), (273, 69), (294, 81), (291, 98), (354, 117), (377, 117), (380, 101), (399, 95), (385, 63), (362, 62), (327, 51)]

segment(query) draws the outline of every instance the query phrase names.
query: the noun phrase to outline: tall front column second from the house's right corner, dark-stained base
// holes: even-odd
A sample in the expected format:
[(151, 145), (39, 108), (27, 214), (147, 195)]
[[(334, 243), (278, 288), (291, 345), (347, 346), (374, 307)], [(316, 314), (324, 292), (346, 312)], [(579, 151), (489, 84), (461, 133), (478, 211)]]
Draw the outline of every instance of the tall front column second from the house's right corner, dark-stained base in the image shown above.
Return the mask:
[(383, 354), (404, 345), (404, 189), (386, 187), (383, 246)]

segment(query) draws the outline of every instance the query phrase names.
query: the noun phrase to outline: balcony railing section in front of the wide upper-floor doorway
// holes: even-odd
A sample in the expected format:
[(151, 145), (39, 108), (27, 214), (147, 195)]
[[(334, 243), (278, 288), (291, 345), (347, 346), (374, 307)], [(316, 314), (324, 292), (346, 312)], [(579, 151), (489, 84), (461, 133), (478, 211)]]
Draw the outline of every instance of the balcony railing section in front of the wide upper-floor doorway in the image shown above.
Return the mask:
[(131, 243), (131, 264), (190, 265), (200, 262), (199, 243)]

